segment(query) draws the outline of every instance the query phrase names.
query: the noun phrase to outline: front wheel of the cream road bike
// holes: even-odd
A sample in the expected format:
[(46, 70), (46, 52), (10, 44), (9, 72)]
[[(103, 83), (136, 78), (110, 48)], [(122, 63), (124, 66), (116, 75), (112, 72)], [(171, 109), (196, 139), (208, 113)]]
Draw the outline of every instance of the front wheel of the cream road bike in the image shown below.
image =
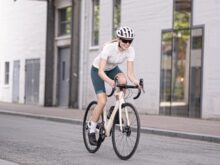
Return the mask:
[[(122, 130), (120, 130), (120, 124), (114, 122), (112, 144), (116, 155), (122, 160), (127, 160), (134, 154), (139, 143), (140, 119), (136, 109), (130, 103), (124, 103), (121, 110)], [(117, 121), (116, 118), (115, 121)]]

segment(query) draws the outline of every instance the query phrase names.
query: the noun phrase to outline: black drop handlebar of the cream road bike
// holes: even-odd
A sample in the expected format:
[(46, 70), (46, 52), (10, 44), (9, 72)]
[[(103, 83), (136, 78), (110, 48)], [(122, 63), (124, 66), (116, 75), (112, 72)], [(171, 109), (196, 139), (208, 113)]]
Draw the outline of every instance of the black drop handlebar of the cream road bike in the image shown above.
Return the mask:
[(135, 88), (138, 89), (138, 94), (133, 97), (133, 99), (137, 99), (140, 95), (141, 95), (141, 89), (144, 91), (144, 80), (140, 79), (139, 81), (139, 85), (126, 85), (126, 84), (117, 84), (117, 79), (115, 79), (115, 86), (114, 88), (112, 88), (112, 91), (109, 95), (107, 95), (108, 97), (111, 97), (113, 95), (113, 93), (115, 92), (116, 87), (118, 87), (120, 90), (122, 89), (128, 89), (128, 88)]

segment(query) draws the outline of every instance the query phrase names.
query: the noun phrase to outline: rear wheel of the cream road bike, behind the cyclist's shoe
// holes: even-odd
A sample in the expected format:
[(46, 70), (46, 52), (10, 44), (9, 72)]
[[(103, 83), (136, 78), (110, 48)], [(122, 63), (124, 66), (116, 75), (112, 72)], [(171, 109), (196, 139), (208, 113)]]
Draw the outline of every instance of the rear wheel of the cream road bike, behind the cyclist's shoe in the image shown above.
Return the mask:
[(89, 143), (89, 138), (88, 138), (88, 132), (89, 132), (88, 122), (90, 121), (92, 111), (93, 111), (93, 109), (96, 105), (97, 105), (97, 101), (90, 102), (89, 105), (86, 108), (84, 118), (83, 118), (83, 141), (84, 141), (86, 149), (90, 153), (95, 153), (96, 151), (98, 151), (98, 149), (101, 146), (101, 144), (98, 144), (97, 146), (92, 146)]

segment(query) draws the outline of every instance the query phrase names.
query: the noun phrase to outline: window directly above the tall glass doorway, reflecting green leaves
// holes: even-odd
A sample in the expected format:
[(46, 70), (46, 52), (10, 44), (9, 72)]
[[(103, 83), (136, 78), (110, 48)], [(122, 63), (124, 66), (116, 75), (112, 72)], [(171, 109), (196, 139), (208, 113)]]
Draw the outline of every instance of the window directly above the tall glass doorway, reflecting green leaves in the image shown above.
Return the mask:
[(174, 29), (189, 28), (191, 26), (191, 0), (175, 0)]

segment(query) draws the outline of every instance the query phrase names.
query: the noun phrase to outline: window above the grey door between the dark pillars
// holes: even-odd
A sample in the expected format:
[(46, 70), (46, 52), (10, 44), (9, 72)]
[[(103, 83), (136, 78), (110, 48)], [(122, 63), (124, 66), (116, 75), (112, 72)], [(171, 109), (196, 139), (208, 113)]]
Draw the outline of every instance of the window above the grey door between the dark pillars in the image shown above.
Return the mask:
[(72, 7), (60, 9), (59, 11), (59, 35), (71, 33)]

